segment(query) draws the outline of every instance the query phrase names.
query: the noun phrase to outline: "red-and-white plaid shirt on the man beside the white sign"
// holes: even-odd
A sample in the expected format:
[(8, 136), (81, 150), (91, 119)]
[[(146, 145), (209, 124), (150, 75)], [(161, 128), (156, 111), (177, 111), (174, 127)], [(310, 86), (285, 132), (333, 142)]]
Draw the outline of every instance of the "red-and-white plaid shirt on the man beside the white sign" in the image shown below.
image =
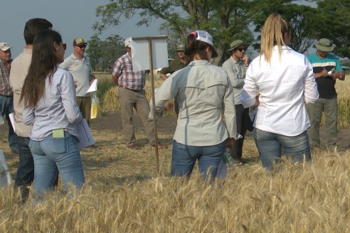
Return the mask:
[(132, 69), (132, 58), (128, 53), (122, 55), (115, 61), (112, 75), (118, 77), (118, 85), (129, 90), (144, 89), (146, 71), (134, 72)]

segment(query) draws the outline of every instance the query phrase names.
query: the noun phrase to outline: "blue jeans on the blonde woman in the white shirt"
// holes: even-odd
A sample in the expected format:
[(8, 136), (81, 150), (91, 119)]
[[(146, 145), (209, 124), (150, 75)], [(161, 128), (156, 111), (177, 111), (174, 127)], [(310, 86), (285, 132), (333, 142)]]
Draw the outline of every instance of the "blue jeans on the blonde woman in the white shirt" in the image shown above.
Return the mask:
[(311, 161), (307, 131), (297, 136), (273, 134), (260, 129), (253, 130), (255, 144), (258, 147), (261, 163), (267, 170), (273, 169), (273, 162), (280, 162), (281, 150), (293, 162)]

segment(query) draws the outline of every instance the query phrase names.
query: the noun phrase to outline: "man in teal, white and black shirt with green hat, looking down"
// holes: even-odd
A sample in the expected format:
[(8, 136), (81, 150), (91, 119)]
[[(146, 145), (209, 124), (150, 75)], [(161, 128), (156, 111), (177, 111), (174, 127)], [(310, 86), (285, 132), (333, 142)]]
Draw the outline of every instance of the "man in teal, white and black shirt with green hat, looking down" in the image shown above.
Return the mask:
[(307, 114), (311, 127), (309, 129), (309, 143), (311, 147), (319, 146), (319, 124), (322, 112), (326, 116), (327, 148), (334, 150), (338, 129), (336, 128), (338, 116), (338, 102), (336, 98), (336, 80), (344, 80), (345, 75), (341, 70), (339, 59), (330, 54), (334, 50), (332, 41), (322, 38), (314, 45), (317, 52), (309, 55), (309, 59), (314, 70), (314, 77), (317, 82), (319, 99), (313, 104), (306, 104)]

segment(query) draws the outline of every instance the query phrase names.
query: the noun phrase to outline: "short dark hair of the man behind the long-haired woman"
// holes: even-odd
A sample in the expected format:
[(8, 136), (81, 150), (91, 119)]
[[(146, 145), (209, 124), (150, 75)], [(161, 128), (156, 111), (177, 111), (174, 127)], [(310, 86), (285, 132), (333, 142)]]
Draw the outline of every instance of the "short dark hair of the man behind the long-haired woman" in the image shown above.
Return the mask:
[(34, 38), (36, 34), (43, 30), (48, 30), (52, 28), (53, 25), (50, 21), (45, 18), (31, 18), (26, 22), (26, 26), (24, 26), (24, 40), (26, 40), (27, 45), (33, 45)]

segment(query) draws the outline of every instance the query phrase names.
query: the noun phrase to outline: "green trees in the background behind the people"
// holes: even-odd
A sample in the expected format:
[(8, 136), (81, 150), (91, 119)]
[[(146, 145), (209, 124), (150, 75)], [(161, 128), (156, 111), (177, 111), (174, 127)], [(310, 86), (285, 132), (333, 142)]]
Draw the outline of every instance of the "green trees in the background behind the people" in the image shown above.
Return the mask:
[(259, 50), (261, 28), (273, 12), (292, 23), (290, 46), (299, 53), (305, 53), (319, 38), (329, 38), (336, 45), (336, 55), (350, 58), (349, 0), (110, 0), (96, 9), (100, 21), (92, 26), (97, 33), (87, 53), (95, 70), (111, 69), (124, 53), (123, 40), (117, 35), (100, 40), (98, 34), (120, 25), (122, 18), (138, 15), (137, 26), (148, 26), (155, 18), (164, 20), (159, 31), (168, 36), (171, 55), (190, 31), (208, 31), (219, 54), (213, 63), (221, 65), (233, 40), (242, 39)]

